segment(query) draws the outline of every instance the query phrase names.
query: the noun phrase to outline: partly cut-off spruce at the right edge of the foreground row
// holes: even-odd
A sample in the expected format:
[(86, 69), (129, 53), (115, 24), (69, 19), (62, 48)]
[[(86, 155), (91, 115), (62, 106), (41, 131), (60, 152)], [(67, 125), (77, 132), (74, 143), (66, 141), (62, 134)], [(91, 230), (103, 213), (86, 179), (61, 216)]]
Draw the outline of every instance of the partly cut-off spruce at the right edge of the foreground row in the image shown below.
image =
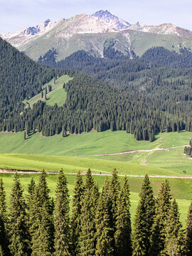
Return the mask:
[(186, 256), (192, 255), (192, 201), (188, 208), (187, 218), (186, 218), (186, 234), (185, 234), (185, 244), (186, 244)]

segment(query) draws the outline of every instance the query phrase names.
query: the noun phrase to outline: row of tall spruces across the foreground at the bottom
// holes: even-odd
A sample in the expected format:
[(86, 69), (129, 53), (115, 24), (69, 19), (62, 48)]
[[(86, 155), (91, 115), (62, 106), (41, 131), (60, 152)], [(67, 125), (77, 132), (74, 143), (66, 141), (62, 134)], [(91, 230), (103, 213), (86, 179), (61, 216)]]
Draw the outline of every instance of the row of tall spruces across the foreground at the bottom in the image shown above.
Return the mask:
[[(63, 170), (58, 174), (55, 199), (50, 198), (46, 172), (28, 184), (26, 199), (19, 175), (14, 175), (10, 207), (0, 179), (0, 255), (4, 256), (189, 256), (192, 254), (192, 203), (186, 229), (169, 181), (154, 198), (146, 175), (131, 225), (129, 182), (120, 186), (117, 171), (106, 177), (102, 191), (90, 169), (82, 180), (76, 174), (72, 208)], [(133, 228), (132, 228), (133, 227)]]

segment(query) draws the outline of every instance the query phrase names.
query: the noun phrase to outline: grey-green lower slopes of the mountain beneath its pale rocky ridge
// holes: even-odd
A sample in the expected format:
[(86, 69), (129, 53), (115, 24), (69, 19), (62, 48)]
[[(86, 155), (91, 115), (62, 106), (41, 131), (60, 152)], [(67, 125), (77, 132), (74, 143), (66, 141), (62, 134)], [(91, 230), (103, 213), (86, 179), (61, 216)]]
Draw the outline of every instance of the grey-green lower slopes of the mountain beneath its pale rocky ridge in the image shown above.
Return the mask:
[(63, 23), (60, 23), (56, 29), (48, 31), (38, 38), (33, 38), (19, 46), (18, 49), (24, 50), (33, 60), (38, 60), (40, 55), (54, 47), (58, 52), (58, 60), (62, 60), (77, 50), (87, 50), (97, 57), (102, 57), (105, 41), (111, 39), (118, 42), (115, 46), (117, 50), (124, 52), (125, 49), (130, 48), (139, 56), (154, 46), (163, 46), (168, 50), (176, 50), (176, 52), (179, 51), (180, 45), (187, 48), (192, 46), (191, 37), (146, 33), (129, 29), (118, 33), (79, 33), (68, 38), (63, 37), (62, 33), (58, 35), (58, 31), (63, 30), (65, 31), (65, 27), (63, 27)]

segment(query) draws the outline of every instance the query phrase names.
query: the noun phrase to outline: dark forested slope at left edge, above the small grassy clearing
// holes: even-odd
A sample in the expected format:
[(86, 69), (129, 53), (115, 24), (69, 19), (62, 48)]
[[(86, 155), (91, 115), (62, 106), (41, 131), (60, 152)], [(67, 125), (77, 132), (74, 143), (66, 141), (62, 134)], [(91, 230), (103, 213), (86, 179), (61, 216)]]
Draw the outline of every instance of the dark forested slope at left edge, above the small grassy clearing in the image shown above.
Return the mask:
[(0, 116), (21, 107), (21, 101), (41, 91), (58, 72), (43, 68), (0, 38)]

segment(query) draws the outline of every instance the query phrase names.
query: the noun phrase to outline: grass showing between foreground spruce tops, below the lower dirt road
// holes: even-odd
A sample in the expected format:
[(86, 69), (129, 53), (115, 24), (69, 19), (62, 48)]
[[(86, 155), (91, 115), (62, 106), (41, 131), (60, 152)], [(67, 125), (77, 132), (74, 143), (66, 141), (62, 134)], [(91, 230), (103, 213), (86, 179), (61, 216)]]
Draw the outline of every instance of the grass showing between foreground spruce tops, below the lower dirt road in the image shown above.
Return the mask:
[[(75, 183), (75, 176), (74, 175), (66, 175), (68, 179), (68, 189), (70, 194), (70, 201), (73, 196), (73, 184)], [(11, 192), (11, 186), (14, 179), (14, 174), (0, 174), (0, 177), (4, 180), (4, 186), (6, 188), (6, 203), (9, 206), (9, 196)], [(21, 183), (24, 189), (24, 194), (26, 195), (26, 190), (28, 183), (31, 180), (31, 177), (34, 178), (36, 182), (38, 182), (39, 174), (21, 174)], [(85, 176), (83, 176), (85, 178)], [(94, 176), (95, 181), (98, 183), (98, 186), (100, 188), (100, 191), (102, 189), (102, 185), (105, 181), (105, 176)], [(49, 174), (47, 176), (48, 181), (48, 187), (50, 188), (50, 196), (55, 196), (55, 185), (57, 182), (57, 175), (55, 174)], [(122, 177), (119, 177), (119, 181), (123, 181)], [(137, 208), (137, 203), (139, 200), (139, 191), (140, 187), (142, 185), (143, 178), (129, 178), (129, 186), (131, 191), (131, 215), (132, 215), (132, 221), (134, 218), (134, 214)], [(151, 178), (151, 185), (154, 189), (154, 195), (157, 196), (159, 188), (161, 186), (161, 181), (163, 181), (163, 178)], [(176, 198), (176, 201), (178, 202), (178, 206), (181, 213), (181, 221), (183, 225), (185, 224), (186, 220), (186, 213), (188, 210), (188, 206), (191, 203), (191, 180), (178, 180), (178, 179), (169, 179), (170, 185), (171, 185), (171, 193), (173, 195), (173, 198)]]

